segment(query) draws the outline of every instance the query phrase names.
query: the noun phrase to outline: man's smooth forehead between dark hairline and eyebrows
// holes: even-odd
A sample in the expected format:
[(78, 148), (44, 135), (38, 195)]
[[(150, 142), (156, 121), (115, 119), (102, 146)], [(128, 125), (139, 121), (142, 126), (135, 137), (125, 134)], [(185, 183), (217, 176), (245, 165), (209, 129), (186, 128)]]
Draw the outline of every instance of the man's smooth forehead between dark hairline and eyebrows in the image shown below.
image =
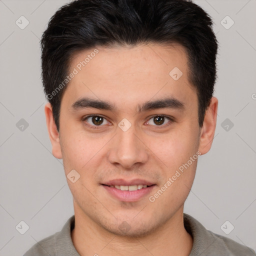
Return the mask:
[(85, 96), (120, 106), (127, 102), (125, 107), (163, 96), (177, 98), (188, 107), (197, 100), (187, 77), (186, 51), (179, 44), (86, 49), (71, 59), (69, 73), (74, 69), (76, 74), (64, 92), (69, 104)]

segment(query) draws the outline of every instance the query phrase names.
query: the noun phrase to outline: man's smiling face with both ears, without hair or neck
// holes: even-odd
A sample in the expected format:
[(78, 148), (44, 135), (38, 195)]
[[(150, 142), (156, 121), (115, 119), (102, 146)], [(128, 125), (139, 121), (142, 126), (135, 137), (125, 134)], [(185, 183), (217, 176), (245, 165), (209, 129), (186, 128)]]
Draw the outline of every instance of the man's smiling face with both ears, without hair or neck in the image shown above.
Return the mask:
[(182, 212), (216, 102), (200, 129), (180, 45), (96, 48), (71, 61), (59, 134), (45, 107), (52, 152), (63, 158), (75, 214), (114, 234), (147, 234)]

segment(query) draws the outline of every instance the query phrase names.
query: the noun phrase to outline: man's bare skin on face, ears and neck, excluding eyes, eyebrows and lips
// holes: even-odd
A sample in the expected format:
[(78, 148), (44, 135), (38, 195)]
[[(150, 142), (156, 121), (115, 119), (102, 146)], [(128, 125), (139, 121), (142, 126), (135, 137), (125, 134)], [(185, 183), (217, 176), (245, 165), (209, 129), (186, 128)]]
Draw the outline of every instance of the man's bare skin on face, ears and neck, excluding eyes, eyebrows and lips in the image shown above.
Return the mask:
[[(185, 49), (172, 44), (97, 47), (99, 52), (69, 82), (60, 106), (59, 131), (52, 108), (45, 116), (52, 153), (62, 158), (65, 175), (75, 169), (80, 178), (72, 183), (75, 227), (73, 244), (80, 255), (189, 255), (192, 237), (183, 226), (183, 205), (192, 186), (197, 160), (154, 202), (148, 197), (172, 177), (197, 151), (211, 147), (218, 101), (211, 98), (203, 127), (198, 125), (195, 87), (188, 80)], [(70, 70), (93, 49), (77, 53)], [(174, 80), (170, 70), (178, 67), (182, 76)], [(107, 100), (116, 112), (96, 108), (73, 109), (79, 98)], [(161, 108), (137, 112), (138, 104), (173, 96), (184, 109)], [(96, 126), (90, 114), (104, 117)], [(158, 124), (152, 115), (167, 115)], [(126, 118), (127, 131), (118, 127)], [(86, 126), (87, 123), (89, 126)], [(170, 123), (169, 126), (166, 126)], [(94, 127), (98, 127), (95, 129)], [(135, 202), (113, 198), (101, 185), (114, 178), (142, 178), (156, 185), (150, 194)], [(130, 229), (118, 226), (126, 221)], [(118, 249), (117, 249), (118, 248)]]

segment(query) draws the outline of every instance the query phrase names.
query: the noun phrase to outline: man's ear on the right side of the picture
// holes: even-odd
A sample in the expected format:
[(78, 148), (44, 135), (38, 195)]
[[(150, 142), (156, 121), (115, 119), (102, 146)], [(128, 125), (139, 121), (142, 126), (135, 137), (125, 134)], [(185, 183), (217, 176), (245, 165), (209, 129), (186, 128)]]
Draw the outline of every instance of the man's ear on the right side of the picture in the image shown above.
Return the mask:
[(205, 154), (210, 150), (216, 127), (217, 107), (217, 98), (211, 97), (209, 107), (205, 111), (203, 126), (200, 130), (198, 150), (201, 154)]

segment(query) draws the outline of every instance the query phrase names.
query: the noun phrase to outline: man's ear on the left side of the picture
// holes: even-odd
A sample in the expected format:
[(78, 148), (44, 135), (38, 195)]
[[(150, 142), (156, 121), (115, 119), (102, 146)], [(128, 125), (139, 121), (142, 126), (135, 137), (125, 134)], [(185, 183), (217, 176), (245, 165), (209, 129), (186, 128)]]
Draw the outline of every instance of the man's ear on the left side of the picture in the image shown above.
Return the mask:
[(52, 154), (58, 158), (62, 158), (62, 153), (60, 149), (60, 143), (59, 143), (59, 133), (57, 131), (57, 127), (52, 115), (52, 107), (51, 104), (48, 102), (44, 106), (44, 113), (46, 118), (46, 125), (48, 129), (48, 134), (52, 146)]

